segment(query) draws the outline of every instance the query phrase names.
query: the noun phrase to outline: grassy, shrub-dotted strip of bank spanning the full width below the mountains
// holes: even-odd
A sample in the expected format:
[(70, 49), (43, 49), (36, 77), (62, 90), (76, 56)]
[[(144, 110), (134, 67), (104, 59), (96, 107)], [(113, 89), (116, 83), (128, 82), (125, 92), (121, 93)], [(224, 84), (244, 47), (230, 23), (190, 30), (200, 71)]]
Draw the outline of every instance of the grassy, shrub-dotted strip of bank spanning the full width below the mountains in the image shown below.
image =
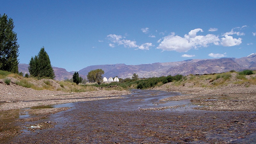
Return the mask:
[[(205, 74), (205, 75), (189, 75), (189, 76), (161, 76), (146, 79), (122, 79), (119, 83), (102, 83), (102, 84), (81, 84), (76, 85), (70, 81), (55, 81), (51, 79), (38, 80), (35, 77), (23, 77), (18, 74), (0, 70), (0, 79), (4, 79), (6, 84), (10, 84), (11, 80), (8, 77), (17, 79), (17, 85), (32, 88), (35, 90), (57, 90), (65, 92), (87, 92), (99, 89), (105, 90), (125, 90), (125, 89), (148, 89), (152, 87), (159, 87), (163, 84), (172, 82), (174, 86), (184, 86), (189, 84), (189, 87), (209, 87), (214, 88), (227, 84), (245, 84), (250, 86), (256, 84), (256, 76), (247, 76), (255, 74), (256, 71), (244, 70), (242, 72), (226, 72), (220, 74)], [(233, 76), (232, 76), (233, 75)]]

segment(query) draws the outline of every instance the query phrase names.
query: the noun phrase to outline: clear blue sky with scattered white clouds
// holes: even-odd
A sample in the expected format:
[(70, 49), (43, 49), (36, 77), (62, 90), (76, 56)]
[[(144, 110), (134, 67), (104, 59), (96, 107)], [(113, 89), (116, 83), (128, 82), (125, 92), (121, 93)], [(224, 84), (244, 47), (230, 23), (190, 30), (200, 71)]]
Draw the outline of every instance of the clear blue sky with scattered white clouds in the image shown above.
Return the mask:
[(256, 53), (256, 1), (2, 1), (20, 63), (45, 47), (52, 66), (127, 65)]

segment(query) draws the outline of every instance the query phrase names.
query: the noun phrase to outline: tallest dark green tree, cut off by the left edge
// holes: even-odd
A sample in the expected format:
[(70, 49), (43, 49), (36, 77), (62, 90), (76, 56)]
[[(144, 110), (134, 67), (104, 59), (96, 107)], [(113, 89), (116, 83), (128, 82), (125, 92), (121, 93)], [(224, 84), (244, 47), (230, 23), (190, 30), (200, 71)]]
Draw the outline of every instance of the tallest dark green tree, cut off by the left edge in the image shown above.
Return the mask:
[(18, 73), (18, 56), (20, 45), (17, 43), (17, 34), (13, 31), (12, 18), (0, 14), (0, 69)]

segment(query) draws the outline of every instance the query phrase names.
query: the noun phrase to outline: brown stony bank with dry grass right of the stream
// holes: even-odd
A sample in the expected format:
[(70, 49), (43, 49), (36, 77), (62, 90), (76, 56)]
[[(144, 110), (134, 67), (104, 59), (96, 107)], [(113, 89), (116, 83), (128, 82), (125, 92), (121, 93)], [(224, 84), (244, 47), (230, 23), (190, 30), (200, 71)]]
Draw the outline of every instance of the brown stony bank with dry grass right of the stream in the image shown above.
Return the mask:
[[(205, 87), (195, 86), (193, 82), (184, 82), (183, 85), (175, 86), (167, 83), (154, 90), (182, 92), (182, 96), (173, 96), (160, 101), (185, 100), (190, 101), (199, 107), (195, 109), (211, 111), (256, 111), (256, 85), (250, 82), (239, 84), (240, 79), (236, 78), (236, 73), (231, 74), (227, 84), (211, 87), (214, 82), (211, 80), (199, 80)], [(191, 76), (187, 76), (188, 79)], [(198, 78), (198, 77), (197, 77)], [(255, 79), (256, 74), (246, 76), (248, 79)], [(200, 79), (200, 78), (198, 78)], [(221, 81), (217, 79), (215, 82)]]

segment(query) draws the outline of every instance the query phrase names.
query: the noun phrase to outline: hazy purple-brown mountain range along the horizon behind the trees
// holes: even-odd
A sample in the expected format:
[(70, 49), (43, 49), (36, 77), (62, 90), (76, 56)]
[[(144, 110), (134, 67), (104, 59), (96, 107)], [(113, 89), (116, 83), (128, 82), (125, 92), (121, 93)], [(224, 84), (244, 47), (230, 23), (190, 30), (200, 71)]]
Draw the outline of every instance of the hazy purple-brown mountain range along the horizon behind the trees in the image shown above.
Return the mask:
[[(28, 73), (28, 64), (19, 64), (19, 72)], [(68, 72), (64, 68), (52, 67), (55, 80), (71, 79), (75, 71)], [(256, 53), (242, 58), (220, 58), (220, 59), (189, 59), (176, 62), (157, 62), (152, 64), (126, 65), (107, 64), (93, 65), (78, 71), (79, 76), (86, 78), (88, 72), (94, 69), (102, 69), (103, 77), (131, 78), (136, 73), (140, 78), (159, 77), (168, 75), (189, 75), (221, 73), (230, 70), (242, 71), (244, 69), (256, 69)]]

